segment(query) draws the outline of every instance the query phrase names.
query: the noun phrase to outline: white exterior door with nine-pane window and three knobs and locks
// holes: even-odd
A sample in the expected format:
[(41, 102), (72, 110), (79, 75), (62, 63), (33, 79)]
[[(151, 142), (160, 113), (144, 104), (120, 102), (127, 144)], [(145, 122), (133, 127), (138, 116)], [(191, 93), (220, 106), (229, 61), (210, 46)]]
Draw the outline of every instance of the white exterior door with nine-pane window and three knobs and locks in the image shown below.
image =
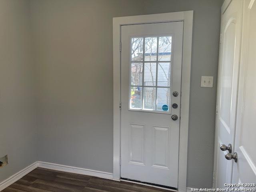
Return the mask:
[(178, 187), (182, 38), (183, 22), (121, 26), (121, 178)]

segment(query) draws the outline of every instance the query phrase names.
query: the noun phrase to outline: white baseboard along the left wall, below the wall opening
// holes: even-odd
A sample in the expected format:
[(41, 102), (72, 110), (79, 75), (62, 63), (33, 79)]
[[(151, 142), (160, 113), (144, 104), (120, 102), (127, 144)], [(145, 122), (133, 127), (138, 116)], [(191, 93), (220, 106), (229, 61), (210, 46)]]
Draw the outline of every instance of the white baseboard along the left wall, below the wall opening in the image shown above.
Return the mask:
[(20, 170), (18, 173), (14, 174), (14, 175), (10, 176), (9, 178), (7, 178), (6, 180), (0, 182), (0, 191), (4, 190), (6, 187), (15, 183), (16, 181), (18, 181), (19, 179), (24, 177), (29, 172), (36, 169), (37, 167), (38, 167), (38, 162), (34, 162), (30, 166), (27, 166), (26, 168)]

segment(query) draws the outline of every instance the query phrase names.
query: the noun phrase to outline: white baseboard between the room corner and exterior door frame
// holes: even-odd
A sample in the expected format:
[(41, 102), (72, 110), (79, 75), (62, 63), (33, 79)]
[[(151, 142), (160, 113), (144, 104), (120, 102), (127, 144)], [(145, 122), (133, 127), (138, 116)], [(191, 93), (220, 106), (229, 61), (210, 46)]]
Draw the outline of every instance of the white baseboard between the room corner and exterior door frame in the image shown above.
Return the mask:
[(72, 167), (72, 166), (60, 165), (60, 164), (54, 164), (54, 163), (48, 163), (48, 162), (41, 162), (41, 161), (38, 162), (38, 167), (113, 180), (112, 173), (103, 172), (103, 171), (96, 171), (96, 170), (91, 170), (91, 169), (78, 168), (78, 167)]

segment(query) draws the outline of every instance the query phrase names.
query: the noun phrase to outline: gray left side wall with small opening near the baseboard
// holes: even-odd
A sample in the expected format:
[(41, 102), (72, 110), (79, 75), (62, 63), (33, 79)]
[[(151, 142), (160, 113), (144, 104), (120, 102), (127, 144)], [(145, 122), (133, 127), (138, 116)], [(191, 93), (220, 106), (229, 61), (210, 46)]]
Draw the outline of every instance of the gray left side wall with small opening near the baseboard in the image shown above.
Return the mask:
[(0, 181), (37, 160), (28, 0), (0, 0)]

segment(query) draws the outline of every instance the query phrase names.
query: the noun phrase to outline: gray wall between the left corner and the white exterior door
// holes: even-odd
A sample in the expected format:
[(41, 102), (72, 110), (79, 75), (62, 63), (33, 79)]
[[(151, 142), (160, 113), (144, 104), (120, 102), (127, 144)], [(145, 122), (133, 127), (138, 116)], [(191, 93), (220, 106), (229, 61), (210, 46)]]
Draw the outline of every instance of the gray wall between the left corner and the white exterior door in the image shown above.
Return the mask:
[(32, 0), (39, 159), (113, 172), (112, 18), (141, 0)]

